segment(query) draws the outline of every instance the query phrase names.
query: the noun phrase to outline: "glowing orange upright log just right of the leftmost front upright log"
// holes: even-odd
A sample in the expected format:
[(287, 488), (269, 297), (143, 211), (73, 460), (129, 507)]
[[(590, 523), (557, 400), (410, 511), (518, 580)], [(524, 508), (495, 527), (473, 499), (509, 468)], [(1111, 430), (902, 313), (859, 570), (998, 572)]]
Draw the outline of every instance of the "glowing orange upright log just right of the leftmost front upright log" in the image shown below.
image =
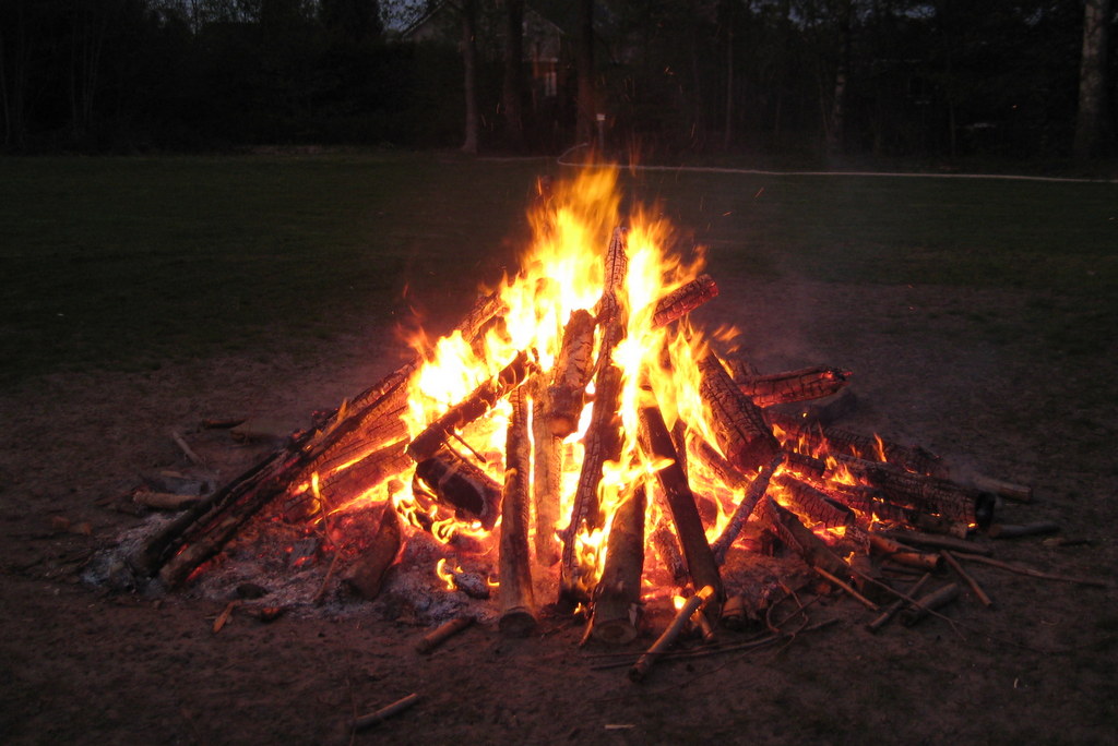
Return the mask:
[(562, 439), (553, 434), (548, 419), (549, 392), (542, 377), (532, 395), (532, 504), (536, 519), (536, 562), (546, 567), (559, 562), (556, 525), (562, 479)]

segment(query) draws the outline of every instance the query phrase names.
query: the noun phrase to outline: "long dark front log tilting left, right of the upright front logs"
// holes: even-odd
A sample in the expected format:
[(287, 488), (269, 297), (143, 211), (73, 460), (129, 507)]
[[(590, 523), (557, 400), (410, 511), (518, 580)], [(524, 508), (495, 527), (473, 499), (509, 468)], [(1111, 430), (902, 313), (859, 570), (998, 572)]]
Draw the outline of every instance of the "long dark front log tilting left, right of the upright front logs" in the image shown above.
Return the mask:
[(714, 554), (707, 542), (707, 533), (699, 517), (699, 509), (695, 507), (694, 494), (688, 484), (686, 475), (680, 468), (672, 436), (664, 424), (664, 417), (655, 404), (641, 408), (641, 440), (650, 457), (669, 462), (656, 472), (656, 479), (664, 490), (694, 587), (710, 586), (717, 594), (709, 613), (709, 616), (717, 620), (722, 599), (722, 578)]

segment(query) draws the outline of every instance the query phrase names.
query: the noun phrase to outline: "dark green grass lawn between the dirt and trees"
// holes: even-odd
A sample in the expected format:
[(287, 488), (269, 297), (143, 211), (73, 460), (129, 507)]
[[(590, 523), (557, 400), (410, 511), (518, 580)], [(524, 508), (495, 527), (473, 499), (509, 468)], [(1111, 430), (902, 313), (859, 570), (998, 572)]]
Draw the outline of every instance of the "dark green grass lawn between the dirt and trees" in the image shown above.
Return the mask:
[[(294, 350), (409, 307), (437, 328), (514, 267), (534, 176), (563, 171), (453, 154), (0, 160), (0, 381), (158, 367), (277, 329)], [(1020, 288), (1069, 352), (1118, 323), (1114, 184), (625, 182), (710, 245), (717, 277)]]

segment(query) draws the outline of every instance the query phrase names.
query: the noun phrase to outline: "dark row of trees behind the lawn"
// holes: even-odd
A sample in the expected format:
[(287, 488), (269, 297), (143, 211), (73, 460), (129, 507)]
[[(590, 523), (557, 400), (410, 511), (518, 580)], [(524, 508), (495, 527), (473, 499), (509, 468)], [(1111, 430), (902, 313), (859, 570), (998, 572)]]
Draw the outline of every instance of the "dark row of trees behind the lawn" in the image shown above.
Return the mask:
[(644, 154), (1088, 157), (1115, 150), (1115, 22), (1110, 0), (0, 0), (0, 117), (8, 152), (600, 131)]

